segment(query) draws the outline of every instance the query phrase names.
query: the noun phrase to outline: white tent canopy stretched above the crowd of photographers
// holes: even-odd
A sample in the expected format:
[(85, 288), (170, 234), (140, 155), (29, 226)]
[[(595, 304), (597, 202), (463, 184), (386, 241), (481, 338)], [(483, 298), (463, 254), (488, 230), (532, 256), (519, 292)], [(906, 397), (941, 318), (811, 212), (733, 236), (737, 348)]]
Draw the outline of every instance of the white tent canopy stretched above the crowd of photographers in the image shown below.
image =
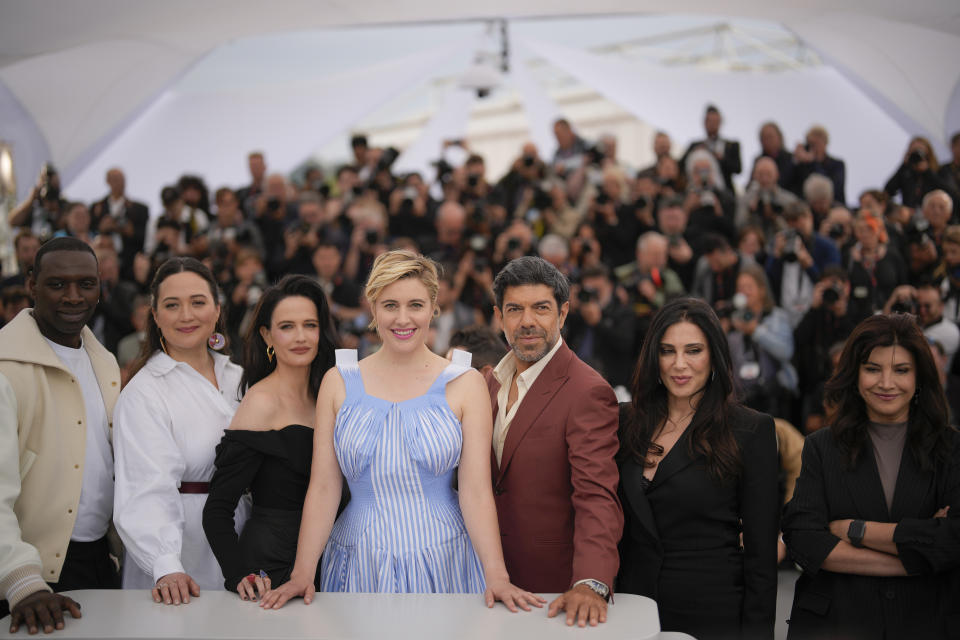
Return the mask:
[[(807, 100), (803, 109), (822, 104), (824, 113), (809, 113), (806, 122), (798, 119), (790, 126), (798, 135), (815, 121), (829, 127), (834, 117), (842, 126), (836, 119), (840, 113), (853, 112), (856, 119), (857, 113), (869, 112), (861, 119), (863, 126), (855, 129), (864, 137), (842, 142), (840, 130), (832, 129), (836, 145), (831, 147), (851, 165), (858, 145), (862, 155), (864, 145), (880, 144), (882, 148), (868, 150), (874, 157), (893, 150), (887, 161), (893, 162), (910, 135), (926, 135), (945, 149), (949, 135), (960, 129), (960, 65), (955, 63), (960, 60), (960, 11), (955, 0), (811, 0), (803, 8), (789, 4), (677, 0), (669, 10), (773, 21), (816, 50), (829, 68), (804, 78), (822, 98), (819, 103)], [(480, 24), (469, 21), (506, 18), (512, 21), (511, 34), (519, 34), (517, 40), (531, 49), (539, 47), (537, 55), (685, 141), (699, 133), (699, 117), (690, 120), (688, 114), (681, 126), (661, 117), (663, 105), (653, 104), (655, 95), (645, 96), (649, 104), (644, 105), (639, 96), (611, 94), (614, 73), (641, 78), (655, 70), (621, 62), (604, 65), (595, 74), (577, 72), (573, 67), (579, 64), (578, 56), (589, 54), (570, 46), (563, 51), (569, 43), (560, 34), (551, 37), (547, 20), (580, 17), (586, 31), (589, 16), (651, 16), (662, 11), (662, 3), (650, 0), (595, 0), (588, 5), (571, 0), (492, 0), (482, 5), (439, 0), (269, 5), (254, 0), (0, 0), (0, 140), (13, 144), (21, 196), (48, 159), (60, 168), (73, 197), (100, 195), (103, 173), (112, 165), (127, 169), (135, 194), (153, 195), (160, 184), (189, 170), (204, 173), (211, 184), (239, 184), (248, 150), (266, 148), (273, 169), (292, 169), (330, 132), (348, 129), (390, 98), (422, 87), (431, 73), (469, 64), (470, 48), (481, 31)], [(410, 37), (404, 41), (403, 29), (381, 28), (371, 35), (371, 27), (397, 24), (435, 26), (429, 37), (418, 31), (415, 42)], [(286, 50), (303, 57), (278, 69), (265, 48), (263, 64), (217, 67), (224, 52), (243, 48), (251, 39), (302, 42), (300, 49), (288, 45)], [(318, 40), (328, 47), (324, 56), (310, 46)], [(310, 73), (302, 71), (304, 58)], [(297, 69), (298, 74), (284, 69)], [(514, 72), (514, 80), (522, 73)], [(660, 70), (668, 93), (687, 96), (685, 104), (697, 112), (707, 102), (726, 107), (728, 133), (742, 141), (755, 138), (759, 120), (738, 123), (736, 113), (748, 101), (736, 96), (747, 85), (754, 92), (761, 90), (767, 79), (744, 75), (724, 83), (714, 78), (710, 93), (695, 93), (683, 86), (704, 77), (685, 77), (681, 83), (686, 73)], [(600, 76), (607, 79), (601, 82)], [(815, 84), (819, 81), (824, 84)], [(784, 82), (783, 77), (778, 82)], [(535, 92), (523, 96), (539, 104), (525, 104), (528, 114), (553, 108), (543, 97)], [(869, 107), (856, 106), (866, 104), (859, 102), (865, 99)], [(449, 122), (457, 121), (450, 109), (446, 112)], [(788, 112), (797, 110), (774, 102), (760, 119), (793, 117)], [(760, 116), (750, 111), (754, 113)], [(882, 129), (871, 135), (867, 123)], [(544, 138), (542, 122), (529, 124), (540, 127), (534, 139)], [(747, 151), (745, 159), (750, 157)], [(884, 175), (893, 168), (888, 166)], [(873, 184), (878, 179), (873, 176)]]

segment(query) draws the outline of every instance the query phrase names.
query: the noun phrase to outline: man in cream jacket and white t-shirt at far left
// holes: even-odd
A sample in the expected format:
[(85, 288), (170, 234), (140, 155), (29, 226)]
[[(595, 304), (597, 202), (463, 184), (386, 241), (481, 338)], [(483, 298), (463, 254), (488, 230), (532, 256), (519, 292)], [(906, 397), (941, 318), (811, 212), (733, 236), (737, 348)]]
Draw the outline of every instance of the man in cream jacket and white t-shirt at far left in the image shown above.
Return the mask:
[(47, 242), (27, 288), (35, 307), (0, 330), (0, 609), (11, 632), (49, 633), (80, 616), (55, 592), (119, 586), (106, 534), (120, 371), (85, 327), (100, 295), (87, 244)]

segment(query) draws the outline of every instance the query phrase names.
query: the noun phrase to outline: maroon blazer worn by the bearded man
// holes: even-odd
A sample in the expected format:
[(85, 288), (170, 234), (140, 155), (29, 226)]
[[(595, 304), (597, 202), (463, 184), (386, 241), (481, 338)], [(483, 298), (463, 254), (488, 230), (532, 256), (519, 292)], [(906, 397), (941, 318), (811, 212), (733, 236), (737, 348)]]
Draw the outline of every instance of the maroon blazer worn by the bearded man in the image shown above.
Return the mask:
[[(497, 415), (500, 384), (487, 386)], [(563, 593), (594, 578), (613, 588), (623, 510), (617, 498), (618, 407), (610, 385), (566, 344), (527, 391), (507, 432), (493, 494), (510, 580)]]

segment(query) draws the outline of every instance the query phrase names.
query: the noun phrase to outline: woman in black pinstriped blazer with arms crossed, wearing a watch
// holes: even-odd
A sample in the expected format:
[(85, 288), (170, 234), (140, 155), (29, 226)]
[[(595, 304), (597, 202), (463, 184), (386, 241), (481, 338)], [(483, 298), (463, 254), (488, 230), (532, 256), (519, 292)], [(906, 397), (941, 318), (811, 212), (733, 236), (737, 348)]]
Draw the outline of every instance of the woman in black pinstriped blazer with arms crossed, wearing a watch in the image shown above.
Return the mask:
[(861, 322), (825, 400), (784, 513), (789, 637), (960, 637), (960, 434), (913, 317)]

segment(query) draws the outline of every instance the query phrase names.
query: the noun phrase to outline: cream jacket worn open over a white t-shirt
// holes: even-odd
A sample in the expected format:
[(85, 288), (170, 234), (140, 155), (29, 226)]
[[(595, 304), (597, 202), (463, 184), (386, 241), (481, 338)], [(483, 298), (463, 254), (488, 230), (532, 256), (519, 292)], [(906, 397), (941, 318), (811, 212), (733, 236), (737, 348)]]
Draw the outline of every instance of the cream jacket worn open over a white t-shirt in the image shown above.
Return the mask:
[[(90, 329), (81, 335), (112, 427), (120, 369)], [(86, 416), (79, 383), (24, 309), (0, 329), (0, 597), (11, 608), (60, 579), (80, 501)]]

